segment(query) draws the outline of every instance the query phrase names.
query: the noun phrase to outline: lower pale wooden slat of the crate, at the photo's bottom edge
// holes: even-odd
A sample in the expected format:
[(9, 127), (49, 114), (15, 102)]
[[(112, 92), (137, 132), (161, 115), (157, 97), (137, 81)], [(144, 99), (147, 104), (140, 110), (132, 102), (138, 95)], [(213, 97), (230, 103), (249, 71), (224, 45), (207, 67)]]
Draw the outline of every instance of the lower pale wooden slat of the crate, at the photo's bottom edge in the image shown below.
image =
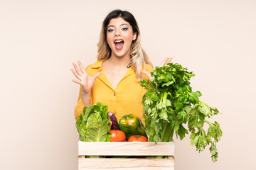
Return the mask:
[(78, 159), (79, 170), (174, 170), (174, 157), (169, 159), (119, 159), (85, 158)]

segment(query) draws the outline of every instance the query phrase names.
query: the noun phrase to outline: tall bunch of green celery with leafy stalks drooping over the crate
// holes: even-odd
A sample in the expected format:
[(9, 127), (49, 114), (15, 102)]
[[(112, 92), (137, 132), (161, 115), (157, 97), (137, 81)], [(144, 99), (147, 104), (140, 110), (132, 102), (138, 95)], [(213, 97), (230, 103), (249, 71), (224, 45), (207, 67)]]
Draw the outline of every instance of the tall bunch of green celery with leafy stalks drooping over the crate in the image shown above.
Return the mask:
[[(188, 72), (180, 64), (169, 63), (164, 67), (156, 67), (151, 73), (151, 81), (141, 81), (147, 90), (142, 98), (144, 107), (145, 130), (149, 142), (169, 142), (176, 137), (183, 138), (191, 132), (191, 145), (202, 152), (210, 145), (212, 161), (218, 159), (216, 143), (222, 136), (220, 125), (210, 123), (211, 118), (219, 113), (217, 108), (210, 107), (199, 100), (200, 91), (193, 92), (190, 79), (194, 74)], [(184, 124), (188, 124), (188, 129)], [(204, 124), (209, 125), (206, 132)]]

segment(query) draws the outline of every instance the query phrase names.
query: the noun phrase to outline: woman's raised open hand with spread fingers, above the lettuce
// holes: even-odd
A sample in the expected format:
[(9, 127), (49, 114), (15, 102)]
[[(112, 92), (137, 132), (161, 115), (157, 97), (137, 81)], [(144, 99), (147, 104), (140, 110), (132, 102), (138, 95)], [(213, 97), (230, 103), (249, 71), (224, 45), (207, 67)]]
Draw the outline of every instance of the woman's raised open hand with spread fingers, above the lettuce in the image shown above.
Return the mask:
[(95, 83), (95, 79), (102, 74), (102, 72), (97, 72), (93, 77), (90, 77), (87, 72), (85, 72), (85, 68), (82, 66), (82, 63), (78, 61), (79, 68), (77, 64), (73, 62), (73, 66), (75, 69), (71, 69), (75, 77), (78, 79), (73, 79), (72, 81), (76, 84), (80, 84), (82, 86), (82, 96), (90, 96), (90, 91), (92, 89), (93, 84)]

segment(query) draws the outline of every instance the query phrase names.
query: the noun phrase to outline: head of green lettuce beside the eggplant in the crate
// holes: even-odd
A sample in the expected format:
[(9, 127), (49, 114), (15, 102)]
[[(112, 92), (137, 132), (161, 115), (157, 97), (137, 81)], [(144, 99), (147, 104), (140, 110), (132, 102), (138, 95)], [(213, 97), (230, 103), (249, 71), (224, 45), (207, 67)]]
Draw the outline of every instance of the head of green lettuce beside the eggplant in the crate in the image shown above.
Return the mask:
[(110, 142), (110, 126), (107, 105), (104, 103), (85, 107), (75, 124), (80, 140), (85, 142)]

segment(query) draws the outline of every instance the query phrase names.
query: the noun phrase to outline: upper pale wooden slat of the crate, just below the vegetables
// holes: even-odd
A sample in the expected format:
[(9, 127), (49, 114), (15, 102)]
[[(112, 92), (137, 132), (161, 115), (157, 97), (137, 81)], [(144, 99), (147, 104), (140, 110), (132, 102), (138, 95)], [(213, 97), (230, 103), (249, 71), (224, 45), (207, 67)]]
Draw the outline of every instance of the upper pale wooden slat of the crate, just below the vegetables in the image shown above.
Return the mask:
[(78, 155), (174, 156), (174, 142), (78, 142)]

